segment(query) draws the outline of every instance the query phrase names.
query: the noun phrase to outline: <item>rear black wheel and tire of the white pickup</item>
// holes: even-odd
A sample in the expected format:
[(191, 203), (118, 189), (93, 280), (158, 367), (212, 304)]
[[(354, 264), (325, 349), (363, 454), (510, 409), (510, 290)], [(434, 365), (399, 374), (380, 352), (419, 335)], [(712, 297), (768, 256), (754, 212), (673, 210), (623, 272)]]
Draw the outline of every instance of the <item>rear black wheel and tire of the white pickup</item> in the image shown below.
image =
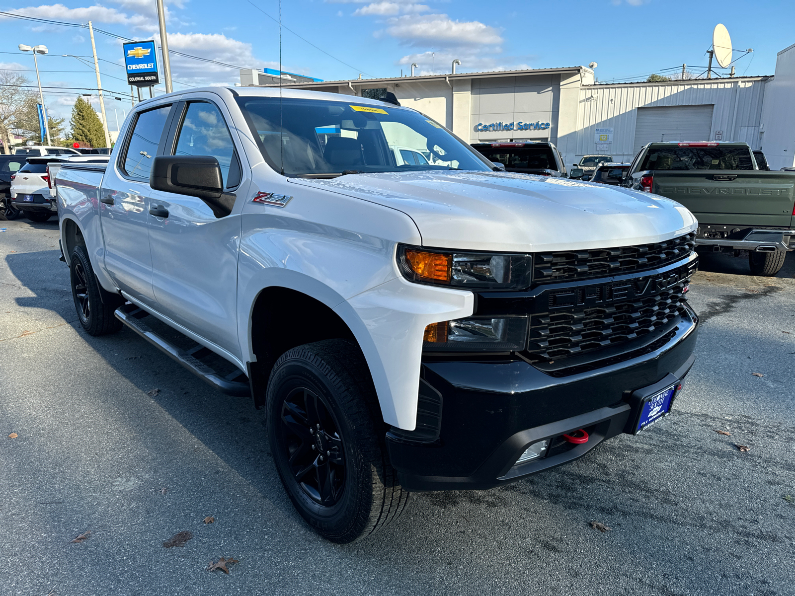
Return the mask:
[(121, 296), (99, 287), (85, 246), (76, 246), (69, 262), (72, 299), (80, 325), (88, 335), (108, 335), (122, 328), (114, 311), (124, 304)]

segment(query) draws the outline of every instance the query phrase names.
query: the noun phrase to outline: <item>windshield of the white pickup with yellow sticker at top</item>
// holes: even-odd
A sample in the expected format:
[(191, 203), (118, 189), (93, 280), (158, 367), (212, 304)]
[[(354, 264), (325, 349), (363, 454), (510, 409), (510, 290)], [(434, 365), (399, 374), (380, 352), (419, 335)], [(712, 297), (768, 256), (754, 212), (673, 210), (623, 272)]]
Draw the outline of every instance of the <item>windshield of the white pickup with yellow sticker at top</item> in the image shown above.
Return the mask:
[(238, 104), (266, 161), (285, 176), (491, 170), (468, 145), (407, 108), (356, 103), (353, 97), (340, 102), (284, 98), (281, 103), (272, 97), (238, 97)]

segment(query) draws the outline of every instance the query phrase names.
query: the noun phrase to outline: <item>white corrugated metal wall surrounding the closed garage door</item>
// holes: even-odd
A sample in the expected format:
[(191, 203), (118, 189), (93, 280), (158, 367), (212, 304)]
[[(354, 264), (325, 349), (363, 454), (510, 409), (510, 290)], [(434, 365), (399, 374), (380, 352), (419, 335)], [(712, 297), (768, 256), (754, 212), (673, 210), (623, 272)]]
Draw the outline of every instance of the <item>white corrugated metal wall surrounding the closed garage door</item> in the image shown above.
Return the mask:
[[(577, 157), (596, 151), (596, 128), (612, 128), (611, 153), (616, 161), (634, 157), (638, 107), (713, 105), (712, 136), (723, 131), (723, 141), (745, 141), (759, 146), (762, 99), (769, 77), (700, 79), (697, 82), (630, 83), (580, 87), (577, 110)], [(567, 162), (572, 161), (567, 157)]]

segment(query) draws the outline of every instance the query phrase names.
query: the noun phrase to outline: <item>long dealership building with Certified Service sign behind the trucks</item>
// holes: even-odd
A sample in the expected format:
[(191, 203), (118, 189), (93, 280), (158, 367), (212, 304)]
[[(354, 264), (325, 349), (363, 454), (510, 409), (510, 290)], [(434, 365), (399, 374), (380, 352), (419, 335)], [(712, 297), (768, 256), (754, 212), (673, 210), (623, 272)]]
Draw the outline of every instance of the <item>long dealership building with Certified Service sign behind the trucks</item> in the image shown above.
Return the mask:
[(604, 84), (575, 66), (282, 86), (370, 99), (391, 91), (470, 143), (552, 141), (568, 167), (594, 153), (631, 161), (651, 141), (744, 141), (778, 169), (793, 166), (793, 83), (795, 45), (779, 52), (775, 76)]

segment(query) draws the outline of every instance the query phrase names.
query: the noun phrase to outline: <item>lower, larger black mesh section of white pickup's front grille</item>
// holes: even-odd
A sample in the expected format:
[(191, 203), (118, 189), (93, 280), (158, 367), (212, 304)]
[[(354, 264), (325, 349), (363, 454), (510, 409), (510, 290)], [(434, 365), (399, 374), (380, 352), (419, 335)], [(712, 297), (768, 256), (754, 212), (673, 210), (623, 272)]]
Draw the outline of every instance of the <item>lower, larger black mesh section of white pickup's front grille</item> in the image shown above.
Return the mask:
[(684, 313), (684, 288), (695, 268), (694, 262), (677, 269), (676, 280), (650, 296), (531, 315), (529, 354), (555, 361), (653, 333)]

